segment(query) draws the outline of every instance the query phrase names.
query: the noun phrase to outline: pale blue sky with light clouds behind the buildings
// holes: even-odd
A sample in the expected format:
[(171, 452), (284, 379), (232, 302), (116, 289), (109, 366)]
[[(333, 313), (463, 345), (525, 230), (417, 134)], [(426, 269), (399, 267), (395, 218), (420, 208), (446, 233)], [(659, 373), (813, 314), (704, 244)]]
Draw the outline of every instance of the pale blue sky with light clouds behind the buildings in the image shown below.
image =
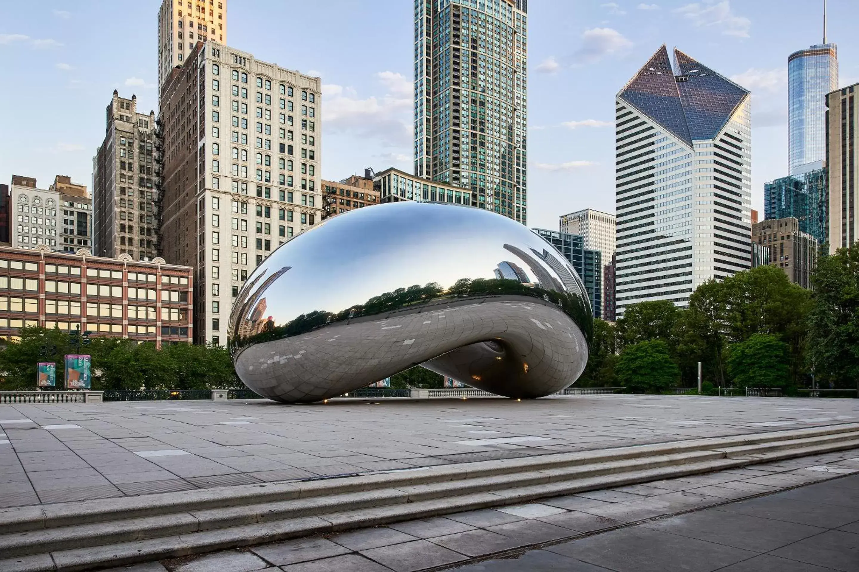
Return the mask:
[[(92, 184), (114, 89), (157, 113), (159, 0), (0, 2), (0, 182)], [(822, 0), (532, 0), (528, 226), (614, 212), (614, 98), (661, 45), (752, 91), (752, 208), (788, 173), (787, 58), (822, 40)], [(410, 0), (230, 0), (227, 44), (320, 75), (322, 177), (412, 169)], [(856, 0), (830, 0), (840, 84), (859, 81)]]

